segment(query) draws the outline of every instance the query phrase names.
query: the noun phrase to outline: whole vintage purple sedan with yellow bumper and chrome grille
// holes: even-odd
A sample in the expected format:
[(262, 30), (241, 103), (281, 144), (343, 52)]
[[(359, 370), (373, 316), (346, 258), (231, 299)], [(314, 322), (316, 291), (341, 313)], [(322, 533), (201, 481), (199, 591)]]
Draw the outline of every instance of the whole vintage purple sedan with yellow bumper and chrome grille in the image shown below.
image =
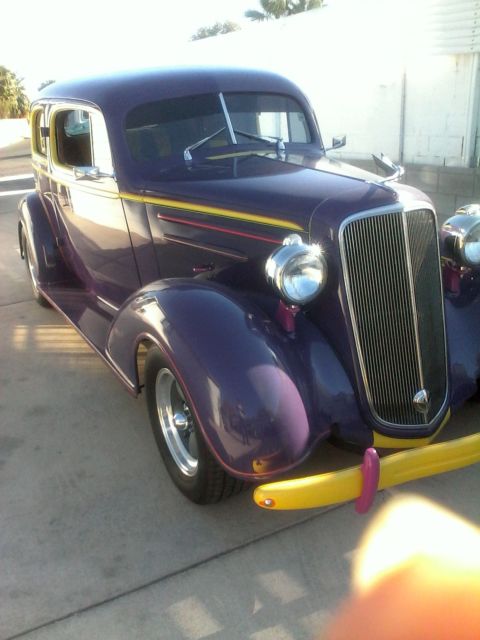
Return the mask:
[[(53, 84), (31, 122), (34, 296), (145, 389), (191, 500), (268, 481), (265, 508), (365, 510), (377, 488), (480, 460), (478, 433), (431, 444), (477, 392), (480, 207), (439, 233), (387, 159), (385, 178), (329, 159), (305, 96), (267, 72)], [(363, 464), (282, 480), (327, 439)]]

